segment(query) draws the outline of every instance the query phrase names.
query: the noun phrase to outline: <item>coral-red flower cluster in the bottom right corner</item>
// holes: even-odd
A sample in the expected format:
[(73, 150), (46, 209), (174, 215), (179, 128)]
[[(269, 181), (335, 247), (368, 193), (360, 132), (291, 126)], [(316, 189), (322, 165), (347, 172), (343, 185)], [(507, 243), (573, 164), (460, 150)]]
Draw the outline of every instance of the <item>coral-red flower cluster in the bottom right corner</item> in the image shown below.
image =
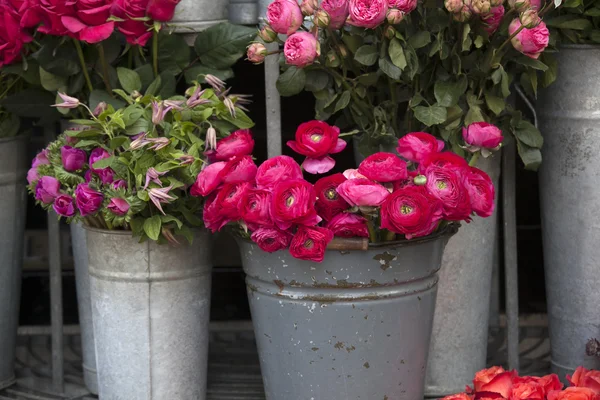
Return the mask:
[(442, 400), (600, 400), (600, 371), (577, 368), (563, 389), (558, 375), (519, 376), (516, 371), (491, 367), (475, 374), (473, 387)]

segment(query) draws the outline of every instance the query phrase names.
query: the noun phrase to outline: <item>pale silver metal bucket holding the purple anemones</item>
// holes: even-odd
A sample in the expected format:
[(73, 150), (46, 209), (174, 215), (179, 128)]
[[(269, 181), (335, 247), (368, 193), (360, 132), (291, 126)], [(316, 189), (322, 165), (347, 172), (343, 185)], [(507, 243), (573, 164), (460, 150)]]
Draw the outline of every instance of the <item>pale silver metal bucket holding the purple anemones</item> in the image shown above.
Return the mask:
[(204, 400), (208, 233), (173, 247), (86, 231), (100, 398)]

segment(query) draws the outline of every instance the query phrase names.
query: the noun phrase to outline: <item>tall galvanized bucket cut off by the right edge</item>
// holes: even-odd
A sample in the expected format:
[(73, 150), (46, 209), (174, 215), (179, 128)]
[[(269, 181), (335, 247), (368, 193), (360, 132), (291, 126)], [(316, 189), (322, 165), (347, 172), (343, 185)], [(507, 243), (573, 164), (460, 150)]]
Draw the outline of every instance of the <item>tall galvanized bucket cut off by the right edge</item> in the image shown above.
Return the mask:
[(564, 46), (540, 92), (539, 173), (552, 370), (600, 369), (585, 345), (600, 336), (600, 46)]

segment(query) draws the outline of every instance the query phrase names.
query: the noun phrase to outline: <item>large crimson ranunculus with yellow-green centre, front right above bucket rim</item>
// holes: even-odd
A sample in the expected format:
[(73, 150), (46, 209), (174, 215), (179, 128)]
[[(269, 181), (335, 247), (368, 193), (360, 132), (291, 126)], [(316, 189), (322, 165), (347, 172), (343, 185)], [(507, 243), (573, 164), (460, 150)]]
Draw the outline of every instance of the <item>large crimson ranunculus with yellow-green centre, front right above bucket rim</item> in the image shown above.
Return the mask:
[(407, 239), (429, 235), (441, 219), (441, 204), (422, 186), (397, 190), (381, 206), (381, 227)]

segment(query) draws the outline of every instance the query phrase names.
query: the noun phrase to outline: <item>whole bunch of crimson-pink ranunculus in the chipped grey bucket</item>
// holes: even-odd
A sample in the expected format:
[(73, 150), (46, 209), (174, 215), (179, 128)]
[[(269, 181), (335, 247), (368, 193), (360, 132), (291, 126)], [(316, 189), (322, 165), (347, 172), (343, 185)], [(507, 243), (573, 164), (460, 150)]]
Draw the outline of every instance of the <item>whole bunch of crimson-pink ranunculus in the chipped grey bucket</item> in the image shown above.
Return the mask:
[(356, 170), (309, 183), (302, 170), (330, 171), (331, 154), (345, 147), (339, 136), (337, 127), (322, 121), (300, 125), (288, 146), (306, 157), (303, 168), (284, 155), (256, 166), (247, 131), (217, 142), (209, 155), (212, 164), (190, 191), (207, 198), (206, 227), (214, 232), (238, 224), (264, 251), (289, 249), (296, 258), (320, 262), (334, 236), (410, 240), (432, 234), (443, 221), (468, 222), (474, 214), (487, 217), (494, 210), (490, 177), (443, 151), (443, 144), (425, 132), (400, 139), (400, 156), (375, 153)]

